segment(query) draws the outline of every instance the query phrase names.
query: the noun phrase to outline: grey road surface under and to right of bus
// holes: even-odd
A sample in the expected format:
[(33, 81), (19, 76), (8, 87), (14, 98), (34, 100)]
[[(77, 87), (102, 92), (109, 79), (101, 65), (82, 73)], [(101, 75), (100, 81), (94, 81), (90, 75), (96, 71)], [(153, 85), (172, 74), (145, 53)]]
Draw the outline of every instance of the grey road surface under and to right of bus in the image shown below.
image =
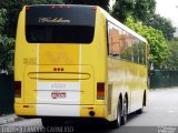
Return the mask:
[[(31, 129), (28, 127), (33, 127), (33, 131), (30, 131)], [(105, 124), (98, 123), (44, 129), (40, 119), (22, 120), (1, 125), (0, 127), (1, 132), (8, 132), (8, 130), (13, 130), (17, 133), (20, 130), (26, 133), (47, 131), (76, 133), (178, 133), (178, 88), (151, 90), (149, 92), (148, 105), (145, 108), (144, 113), (130, 114), (127, 124), (117, 130), (108, 129)]]

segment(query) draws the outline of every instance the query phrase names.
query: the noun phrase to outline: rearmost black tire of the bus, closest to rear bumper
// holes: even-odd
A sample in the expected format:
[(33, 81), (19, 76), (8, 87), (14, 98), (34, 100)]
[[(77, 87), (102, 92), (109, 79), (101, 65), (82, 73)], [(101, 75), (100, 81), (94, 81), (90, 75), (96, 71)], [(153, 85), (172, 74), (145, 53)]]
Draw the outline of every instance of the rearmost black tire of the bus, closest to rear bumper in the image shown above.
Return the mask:
[(118, 109), (117, 109), (117, 119), (115, 121), (110, 122), (110, 127), (118, 129), (118, 127), (120, 127), (120, 124), (121, 124), (121, 104), (119, 102)]

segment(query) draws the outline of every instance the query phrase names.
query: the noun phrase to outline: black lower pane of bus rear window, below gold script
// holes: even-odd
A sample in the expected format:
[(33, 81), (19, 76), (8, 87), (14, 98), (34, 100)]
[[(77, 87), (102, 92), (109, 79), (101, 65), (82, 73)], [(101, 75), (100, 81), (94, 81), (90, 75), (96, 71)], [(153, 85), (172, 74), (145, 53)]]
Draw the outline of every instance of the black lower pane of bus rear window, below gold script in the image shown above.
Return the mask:
[(85, 25), (28, 25), (26, 37), (30, 43), (90, 43), (93, 31)]

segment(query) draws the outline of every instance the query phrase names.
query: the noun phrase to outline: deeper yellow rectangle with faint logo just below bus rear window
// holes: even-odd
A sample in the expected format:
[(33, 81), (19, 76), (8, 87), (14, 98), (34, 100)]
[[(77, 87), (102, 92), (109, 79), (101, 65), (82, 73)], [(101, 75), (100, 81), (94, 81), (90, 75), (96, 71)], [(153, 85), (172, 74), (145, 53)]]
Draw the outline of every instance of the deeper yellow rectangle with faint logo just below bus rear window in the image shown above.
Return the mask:
[(39, 64), (79, 64), (79, 44), (41, 43), (39, 45)]

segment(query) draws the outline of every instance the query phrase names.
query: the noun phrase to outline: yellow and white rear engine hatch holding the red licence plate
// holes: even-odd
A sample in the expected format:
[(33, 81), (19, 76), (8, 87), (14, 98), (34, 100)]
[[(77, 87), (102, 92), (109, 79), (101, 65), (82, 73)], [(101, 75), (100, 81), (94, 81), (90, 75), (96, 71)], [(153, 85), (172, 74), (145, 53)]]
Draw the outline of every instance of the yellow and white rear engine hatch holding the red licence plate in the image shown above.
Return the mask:
[[(37, 71), (37, 68), (40, 68)], [(93, 103), (93, 70), (91, 65), (27, 65), (24, 71), (24, 103), (80, 104), (80, 95), (86, 104)], [(53, 72), (56, 69), (57, 72)], [(58, 69), (62, 69), (58, 71)], [(81, 82), (86, 88), (81, 88)], [(86, 95), (91, 93), (91, 95)], [(36, 98), (37, 96), (37, 98)]]

